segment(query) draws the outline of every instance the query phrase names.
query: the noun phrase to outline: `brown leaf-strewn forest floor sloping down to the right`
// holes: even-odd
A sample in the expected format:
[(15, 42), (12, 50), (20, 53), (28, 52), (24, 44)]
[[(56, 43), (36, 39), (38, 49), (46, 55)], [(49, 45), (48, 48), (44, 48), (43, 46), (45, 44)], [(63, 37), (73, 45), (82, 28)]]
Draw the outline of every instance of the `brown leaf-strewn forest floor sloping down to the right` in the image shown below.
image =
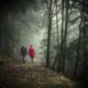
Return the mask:
[(0, 88), (81, 88), (43, 65), (19, 63), (0, 54)]

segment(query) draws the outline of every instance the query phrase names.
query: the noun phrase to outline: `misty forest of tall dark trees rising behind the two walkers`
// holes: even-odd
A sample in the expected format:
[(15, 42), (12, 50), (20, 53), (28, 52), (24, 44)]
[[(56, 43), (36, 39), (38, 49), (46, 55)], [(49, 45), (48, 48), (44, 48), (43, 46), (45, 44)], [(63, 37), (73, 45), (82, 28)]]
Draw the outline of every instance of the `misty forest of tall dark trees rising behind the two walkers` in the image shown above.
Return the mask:
[(1, 0), (0, 52), (21, 61), (30, 44), (35, 63), (87, 84), (88, 0)]

